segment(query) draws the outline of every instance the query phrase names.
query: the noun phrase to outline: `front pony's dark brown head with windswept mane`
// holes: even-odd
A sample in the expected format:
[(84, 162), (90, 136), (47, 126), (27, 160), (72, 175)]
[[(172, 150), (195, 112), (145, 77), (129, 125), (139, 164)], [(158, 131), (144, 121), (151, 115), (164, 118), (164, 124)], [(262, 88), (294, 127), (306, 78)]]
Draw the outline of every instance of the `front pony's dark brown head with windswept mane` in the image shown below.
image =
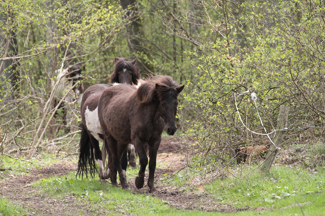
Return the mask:
[(137, 90), (137, 100), (140, 105), (158, 103), (158, 111), (166, 125), (167, 135), (174, 135), (177, 130), (177, 96), (183, 89), (184, 85), (178, 85), (169, 76), (156, 76)]

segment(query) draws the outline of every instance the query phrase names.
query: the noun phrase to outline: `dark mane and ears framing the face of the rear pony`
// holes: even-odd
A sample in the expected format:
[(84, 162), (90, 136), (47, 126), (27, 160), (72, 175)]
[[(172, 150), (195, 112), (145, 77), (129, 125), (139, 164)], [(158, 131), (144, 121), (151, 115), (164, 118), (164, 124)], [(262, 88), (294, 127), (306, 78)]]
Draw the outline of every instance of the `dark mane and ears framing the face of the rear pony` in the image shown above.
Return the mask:
[(127, 69), (131, 72), (132, 74), (132, 82), (133, 84), (137, 85), (138, 84), (138, 80), (141, 79), (141, 75), (140, 75), (140, 69), (135, 65), (135, 61), (136, 59), (134, 59), (133, 61), (128, 61), (128, 59), (126, 58), (115, 58), (116, 62), (115, 62), (115, 68), (113, 73), (110, 76), (110, 83), (116, 82), (116, 83), (120, 83), (119, 82), (119, 71), (122, 71), (123, 69)]

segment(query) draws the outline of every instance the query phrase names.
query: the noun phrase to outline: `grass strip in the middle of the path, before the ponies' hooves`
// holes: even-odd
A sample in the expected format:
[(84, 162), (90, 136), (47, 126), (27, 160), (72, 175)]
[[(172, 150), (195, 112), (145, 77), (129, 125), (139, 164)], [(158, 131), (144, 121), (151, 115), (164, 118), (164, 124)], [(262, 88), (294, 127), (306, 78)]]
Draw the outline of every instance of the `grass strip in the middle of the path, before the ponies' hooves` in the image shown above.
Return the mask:
[(41, 179), (33, 186), (58, 199), (72, 196), (80, 203), (94, 205), (94, 211), (100, 209), (103, 214), (114, 212), (114, 215), (144, 215), (172, 210), (166, 203), (151, 195), (101, 184), (98, 177), (76, 179), (74, 172), (61, 177)]

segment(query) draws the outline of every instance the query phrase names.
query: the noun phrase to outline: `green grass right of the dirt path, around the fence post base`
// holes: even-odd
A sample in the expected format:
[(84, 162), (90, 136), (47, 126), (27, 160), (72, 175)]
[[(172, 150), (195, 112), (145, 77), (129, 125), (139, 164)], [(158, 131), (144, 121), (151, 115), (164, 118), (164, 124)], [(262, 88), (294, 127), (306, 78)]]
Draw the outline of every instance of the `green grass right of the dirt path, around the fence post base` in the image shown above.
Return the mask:
[[(231, 204), (233, 207), (265, 207), (266, 211), (242, 211), (227, 213), (176, 212), (168, 216), (324, 216), (325, 215), (325, 169), (317, 172), (305, 168), (273, 166), (269, 174), (254, 170), (256, 166), (248, 165), (243, 170), (239, 167), (230, 171), (233, 175), (218, 178), (211, 184), (201, 185), (204, 194), (211, 199), (211, 205)], [(175, 178), (166, 182), (183, 187), (189, 192), (189, 175), (184, 170)], [(203, 173), (200, 173), (203, 175)], [(192, 179), (197, 173), (192, 173)], [(197, 176), (196, 176), (197, 177)], [(188, 182), (187, 182), (188, 181)], [(187, 182), (187, 183), (186, 183)], [(191, 184), (191, 183), (190, 183)], [(192, 188), (193, 189), (193, 188)], [(193, 193), (202, 193), (199, 185)], [(199, 202), (197, 205), (199, 206)], [(158, 214), (160, 215), (160, 214)], [(163, 215), (163, 214), (161, 214)]]

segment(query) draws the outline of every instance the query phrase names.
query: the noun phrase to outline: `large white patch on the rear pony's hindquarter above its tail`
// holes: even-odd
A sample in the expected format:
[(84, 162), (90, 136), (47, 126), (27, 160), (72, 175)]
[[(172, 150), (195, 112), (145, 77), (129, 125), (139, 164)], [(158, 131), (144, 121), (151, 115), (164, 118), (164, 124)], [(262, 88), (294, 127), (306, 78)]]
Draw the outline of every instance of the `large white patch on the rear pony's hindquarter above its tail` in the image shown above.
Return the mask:
[(98, 119), (98, 107), (90, 111), (88, 106), (85, 111), (85, 120), (86, 120), (86, 126), (87, 129), (90, 131), (90, 133), (98, 140), (103, 141), (98, 134), (103, 134), (103, 130), (100, 127), (99, 119)]

